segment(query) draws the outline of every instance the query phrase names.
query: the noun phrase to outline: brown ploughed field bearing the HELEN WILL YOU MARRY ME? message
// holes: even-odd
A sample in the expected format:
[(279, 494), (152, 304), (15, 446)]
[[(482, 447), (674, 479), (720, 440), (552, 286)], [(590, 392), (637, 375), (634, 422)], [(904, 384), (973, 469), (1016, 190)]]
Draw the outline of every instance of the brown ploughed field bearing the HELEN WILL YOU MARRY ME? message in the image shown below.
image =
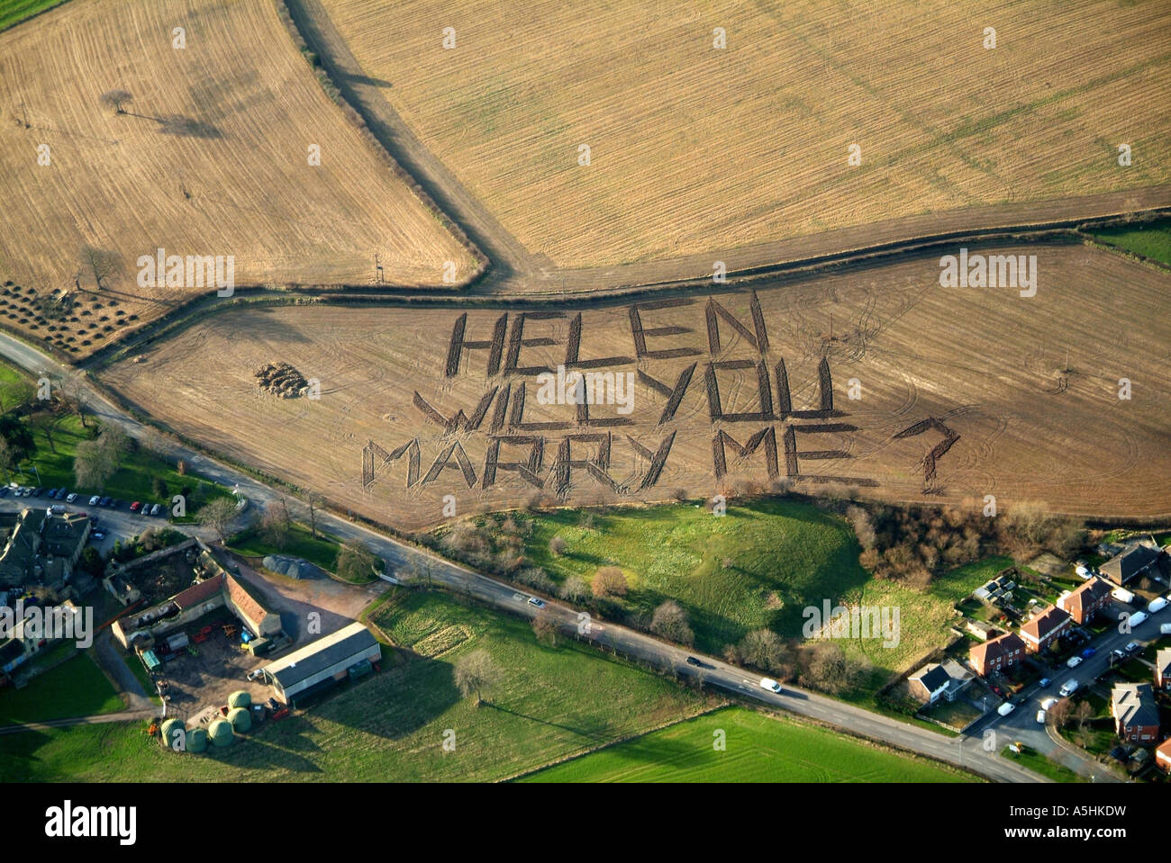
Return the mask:
[[(617, 405), (583, 414), (539, 403), (534, 367), (573, 355), (573, 308), (526, 318), (522, 332), (511, 308), (499, 337), (504, 311), (470, 311), (466, 339), (479, 344), (453, 364), (459, 310), (233, 310), (102, 377), (210, 448), (400, 527), (439, 522), (445, 495), (465, 515), (535, 493), (662, 500), (676, 489), (735, 495), (786, 477), (796, 489), (831, 481), (891, 500), (974, 505), (991, 493), (1001, 508), (1045, 500), (1081, 515), (1171, 513), (1171, 323), (1157, 313), (1167, 275), (1089, 247), (1007, 251), (1038, 255), (1035, 297), (940, 288), (937, 257), (908, 260), (761, 286), (760, 327), (749, 292), (715, 295), (726, 316), (704, 295), (642, 303), (642, 348), (629, 305), (586, 308), (577, 359), (614, 358), (595, 371), (636, 374), (628, 415)], [(493, 344), (500, 370), (489, 375)], [(253, 372), (276, 361), (320, 380), (320, 400), (261, 392)], [(1118, 398), (1121, 378), (1131, 381), (1130, 400)], [(858, 400), (849, 398), (851, 379)], [(451, 428), (440, 414), (454, 417)], [(501, 441), (494, 477), (489, 440)], [(364, 456), (368, 441), (382, 449)], [(721, 476), (713, 442), (723, 442)], [(739, 446), (753, 442), (740, 457)]]

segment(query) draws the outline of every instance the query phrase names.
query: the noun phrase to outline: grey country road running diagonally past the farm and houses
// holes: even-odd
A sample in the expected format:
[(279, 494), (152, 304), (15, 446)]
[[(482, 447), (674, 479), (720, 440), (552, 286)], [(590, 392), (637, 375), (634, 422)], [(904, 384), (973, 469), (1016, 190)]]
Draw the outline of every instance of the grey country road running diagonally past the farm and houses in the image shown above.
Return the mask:
[[(37, 377), (47, 374), (50, 378), (66, 373), (66, 368), (56, 360), (47, 357), (35, 347), (16, 340), (7, 333), (0, 333), (0, 354), (12, 363), (28, 370)], [(121, 426), (133, 437), (141, 437), (145, 427), (138, 420), (125, 414), (111, 403), (101, 392), (88, 384), (84, 385), (90, 409), (107, 422)], [(247, 474), (222, 464), (201, 453), (187, 447), (177, 446), (176, 457), (183, 458), (192, 474), (207, 479), (237, 488), (239, 492), (260, 508), (287, 498), (287, 493), (278, 491), (253, 479)], [(295, 509), (295, 506), (294, 506)], [(303, 513), (299, 513), (303, 518)], [(444, 560), (430, 552), (415, 548), (378, 533), (361, 524), (355, 524), (330, 512), (319, 511), (319, 524), (342, 540), (355, 538), (364, 541), (388, 564), (388, 572), (411, 568), (423, 568), (433, 581), (453, 591), (464, 593), (497, 608), (532, 617), (536, 609), (528, 603), (529, 595), (512, 585), (488, 578), (463, 566)], [(355, 588), (363, 589), (363, 588)], [(580, 613), (560, 603), (549, 603), (557, 614), (567, 631), (578, 630)], [(686, 664), (689, 654), (682, 648), (660, 642), (649, 635), (609, 622), (597, 622), (582, 633), (598, 645), (618, 650), (628, 656), (657, 665), (660, 669), (674, 669), (680, 674), (694, 672), (697, 669)], [(952, 738), (939, 734), (917, 725), (891, 719), (861, 707), (834, 700), (794, 688), (786, 688), (776, 695), (760, 689), (759, 677), (748, 671), (730, 665), (715, 658), (705, 657), (706, 668), (701, 669), (705, 682), (733, 695), (756, 699), (773, 709), (787, 710), (799, 716), (845, 729), (847, 731), (878, 741), (917, 752), (940, 761), (970, 769), (980, 775), (1004, 782), (1042, 782), (1048, 781), (1016, 764), (1001, 758), (997, 752), (987, 752), (980, 745), (979, 738)], [(137, 714), (137, 713), (136, 713)], [(96, 719), (95, 719), (96, 720)], [(102, 719), (105, 722), (107, 719)]]

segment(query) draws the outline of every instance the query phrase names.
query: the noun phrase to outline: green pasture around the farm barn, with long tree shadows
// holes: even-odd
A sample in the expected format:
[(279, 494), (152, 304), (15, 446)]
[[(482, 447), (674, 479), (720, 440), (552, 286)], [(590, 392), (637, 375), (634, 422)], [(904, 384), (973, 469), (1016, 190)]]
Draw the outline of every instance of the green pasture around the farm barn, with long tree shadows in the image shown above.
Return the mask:
[[(423, 653), (228, 748), (171, 753), (141, 723), (0, 736), (0, 780), (493, 781), (715, 705), (576, 642), (540, 645), (525, 621), (443, 594), (404, 594), (374, 622)], [(500, 669), (480, 707), (453, 681), (456, 660), (478, 649)]]

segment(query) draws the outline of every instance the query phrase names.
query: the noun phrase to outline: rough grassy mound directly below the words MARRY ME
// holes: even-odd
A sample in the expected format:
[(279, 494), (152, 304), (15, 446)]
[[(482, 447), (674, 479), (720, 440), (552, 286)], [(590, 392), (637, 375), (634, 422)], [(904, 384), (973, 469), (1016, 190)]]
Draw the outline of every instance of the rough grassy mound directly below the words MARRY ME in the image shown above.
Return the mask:
[[(724, 517), (690, 505), (597, 513), (518, 515), (533, 519), (525, 554), (555, 582), (590, 581), (602, 566), (618, 566), (630, 585), (628, 605), (650, 612), (678, 600), (691, 616), (696, 647), (718, 653), (752, 629), (801, 634), (801, 609), (861, 588), (869, 573), (849, 525), (816, 508), (789, 500), (730, 506)], [(549, 552), (560, 536), (561, 557)]]

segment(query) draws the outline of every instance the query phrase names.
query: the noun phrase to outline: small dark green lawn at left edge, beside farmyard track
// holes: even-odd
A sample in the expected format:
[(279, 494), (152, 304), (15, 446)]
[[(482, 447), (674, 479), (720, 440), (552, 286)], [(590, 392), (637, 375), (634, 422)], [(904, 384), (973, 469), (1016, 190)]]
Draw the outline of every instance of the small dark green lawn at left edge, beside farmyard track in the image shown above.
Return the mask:
[(102, 669), (80, 653), (23, 689), (0, 689), (0, 725), (114, 713), (123, 706)]

